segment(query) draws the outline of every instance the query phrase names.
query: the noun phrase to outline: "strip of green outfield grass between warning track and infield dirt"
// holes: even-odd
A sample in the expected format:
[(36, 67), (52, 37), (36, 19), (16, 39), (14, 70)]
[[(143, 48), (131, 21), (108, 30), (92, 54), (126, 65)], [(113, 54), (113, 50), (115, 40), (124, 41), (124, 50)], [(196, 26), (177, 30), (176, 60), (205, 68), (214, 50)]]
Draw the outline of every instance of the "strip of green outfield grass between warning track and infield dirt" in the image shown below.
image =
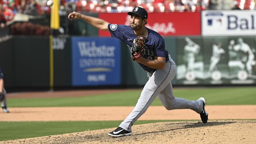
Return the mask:
[[(62, 106), (134, 106), (141, 90), (114, 94), (63, 98), (9, 98), (9, 107), (62, 107)], [(207, 105), (256, 105), (255, 87), (175, 89), (175, 97), (197, 100), (205, 97)], [(153, 106), (161, 106), (156, 98)]]

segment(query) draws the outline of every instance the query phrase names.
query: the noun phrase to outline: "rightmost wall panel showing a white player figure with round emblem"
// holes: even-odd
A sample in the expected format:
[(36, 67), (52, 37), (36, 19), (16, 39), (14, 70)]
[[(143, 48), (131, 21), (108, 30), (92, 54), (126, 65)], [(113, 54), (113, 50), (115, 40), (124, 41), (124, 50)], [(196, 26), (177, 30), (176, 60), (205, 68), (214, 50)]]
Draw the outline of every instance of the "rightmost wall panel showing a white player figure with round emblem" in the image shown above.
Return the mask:
[(231, 37), (228, 49), (230, 83), (254, 84), (256, 82), (255, 37)]

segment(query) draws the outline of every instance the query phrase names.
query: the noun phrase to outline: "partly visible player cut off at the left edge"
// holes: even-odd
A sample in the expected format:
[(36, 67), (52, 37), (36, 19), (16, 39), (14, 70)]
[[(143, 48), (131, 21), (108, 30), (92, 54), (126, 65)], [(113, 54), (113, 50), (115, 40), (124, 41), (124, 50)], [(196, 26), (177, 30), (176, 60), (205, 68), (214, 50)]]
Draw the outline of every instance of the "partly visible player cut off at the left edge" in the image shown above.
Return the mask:
[(3, 79), (3, 73), (2, 69), (0, 67), (0, 101), (1, 101), (1, 106), (3, 109), (3, 112), (9, 112), (6, 106), (6, 91), (4, 89), (4, 79)]

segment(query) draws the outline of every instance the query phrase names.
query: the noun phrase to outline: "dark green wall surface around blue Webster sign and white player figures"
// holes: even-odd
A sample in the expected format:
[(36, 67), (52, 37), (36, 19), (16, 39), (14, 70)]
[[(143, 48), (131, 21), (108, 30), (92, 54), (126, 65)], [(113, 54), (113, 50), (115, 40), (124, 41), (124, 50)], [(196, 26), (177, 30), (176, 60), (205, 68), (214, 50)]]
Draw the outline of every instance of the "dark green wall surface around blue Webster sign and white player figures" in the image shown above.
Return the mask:
[[(185, 46), (184, 38), (185, 37), (164, 37), (166, 49), (168, 50), (172, 59), (174, 59), (180, 70), (182, 70), (183, 65), (183, 49)], [(229, 75), (230, 68), (228, 69), (228, 62), (230, 58), (228, 55), (228, 44), (230, 39), (238, 39), (238, 37), (190, 38), (201, 46), (201, 50), (199, 53), (200, 57), (197, 57), (196, 62), (203, 62), (204, 74), (207, 72), (210, 63), (210, 57), (212, 55), (211, 43), (222, 42), (223, 48), (225, 49), (226, 53), (222, 56), (222, 59), (217, 65), (217, 68), (222, 72), (224, 76)], [(255, 38), (243, 38), (246, 43), (249, 43), (250, 47), (255, 52)], [(55, 36), (53, 39), (54, 88), (71, 87), (71, 37)], [(127, 48), (126, 44), (121, 42), (121, 47), (121, 86), (144, 86), (144, 84), (148, 80), (146, 72), (138, 65), (137, 62), (133, 62), (131, 60), (130, 51)], [(5, 87), (26, 87), (28, 89), (33, 89), (37, 87), (49, 88), (49, 50), (49, 37), (15, 36), (0, 42), (0, 66), (2, 67), (4, 72)], [(255, 75), (256, 68), (255, 66), (252, 66), (252, 68), (253, 75)], [(180, 70), (177, 71), (177, 75), (181, 75), (182, 73), (184, 73)], [(181, 79), (178, 79), (177, 75), (172, 81), (172, 84), (182, 85), (184, 78), (182, 77)], [(255, 81), (253, 77), (250, 77), (249, 80), (253, 80), (253, 82)], [(221, 81), (221, 84), (231, 84), (231, 82), (236, 81), (237, 79), (225, 79), (224, 77)], [(199, 80), (197, 80), (196, 82), (197, 83), (193, 85), (210, 85), (216, 81), (212, 81), (209, 77), (207, 79), (199, 78)]]

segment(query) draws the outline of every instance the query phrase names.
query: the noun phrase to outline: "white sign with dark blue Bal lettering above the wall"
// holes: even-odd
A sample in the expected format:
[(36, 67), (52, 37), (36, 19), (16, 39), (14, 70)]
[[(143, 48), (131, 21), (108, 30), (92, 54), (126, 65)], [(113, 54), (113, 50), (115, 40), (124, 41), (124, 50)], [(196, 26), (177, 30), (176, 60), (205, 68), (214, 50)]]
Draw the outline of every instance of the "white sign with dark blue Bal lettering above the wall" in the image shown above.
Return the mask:
[(202, 36), (250, 36), (255, 33), (255, 11), (202, 11)]

